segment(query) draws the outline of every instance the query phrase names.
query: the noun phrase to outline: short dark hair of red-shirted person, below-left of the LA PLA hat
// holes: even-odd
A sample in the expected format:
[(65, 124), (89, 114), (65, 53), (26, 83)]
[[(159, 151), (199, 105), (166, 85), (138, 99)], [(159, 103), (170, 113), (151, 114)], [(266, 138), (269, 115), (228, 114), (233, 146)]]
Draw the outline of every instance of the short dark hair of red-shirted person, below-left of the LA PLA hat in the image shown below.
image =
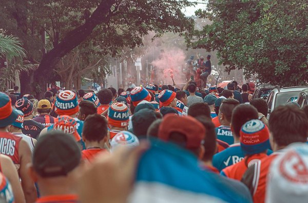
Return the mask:
[(108, 127), (105, 117), (93, 114), (86, 118), (82, 129), (82, 137), (85, 140), (99, 142), (107, 136), (107, 133)]

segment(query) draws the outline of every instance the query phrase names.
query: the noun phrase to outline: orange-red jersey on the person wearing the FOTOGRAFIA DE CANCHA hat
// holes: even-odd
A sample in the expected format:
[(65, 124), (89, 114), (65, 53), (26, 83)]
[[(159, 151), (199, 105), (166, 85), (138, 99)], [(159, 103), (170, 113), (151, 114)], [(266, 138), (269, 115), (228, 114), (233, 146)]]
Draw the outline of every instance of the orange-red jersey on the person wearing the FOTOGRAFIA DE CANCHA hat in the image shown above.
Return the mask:
[(260, 164), (260, 160), (266, 157), (265, 153), (258, 153), (252, 156), (246, 156), (242, 161), (232, 166), (228, 166), (223, 169), (220, 174), (240, 181), (249, 166), (253, 164)]

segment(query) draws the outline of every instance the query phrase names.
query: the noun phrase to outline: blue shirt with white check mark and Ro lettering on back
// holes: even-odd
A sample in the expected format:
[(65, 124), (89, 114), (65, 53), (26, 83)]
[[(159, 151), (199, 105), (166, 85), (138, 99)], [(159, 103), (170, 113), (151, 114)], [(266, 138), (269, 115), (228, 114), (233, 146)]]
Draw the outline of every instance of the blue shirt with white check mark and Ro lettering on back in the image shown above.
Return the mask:
[[(266, 154), (271, 155), (272, 153), (273, 151), (268, 149)], [(224, 168), (242, 161), (244, 157), (245, 155), (242, 151), (241, 144), (234, 143), (227, 149), (215, 154), (212, 163), (214, 167), (219, 171), (222, 171)]]

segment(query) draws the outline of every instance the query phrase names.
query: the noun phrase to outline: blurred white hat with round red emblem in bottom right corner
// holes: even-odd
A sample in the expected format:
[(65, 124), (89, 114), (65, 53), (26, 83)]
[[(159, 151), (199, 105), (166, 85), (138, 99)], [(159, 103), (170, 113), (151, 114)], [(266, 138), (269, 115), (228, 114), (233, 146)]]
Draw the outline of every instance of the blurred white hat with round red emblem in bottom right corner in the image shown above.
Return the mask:
[(306, 202), (308, 199), (308, 145), (283, 149), (269, 167), (265, 202)]

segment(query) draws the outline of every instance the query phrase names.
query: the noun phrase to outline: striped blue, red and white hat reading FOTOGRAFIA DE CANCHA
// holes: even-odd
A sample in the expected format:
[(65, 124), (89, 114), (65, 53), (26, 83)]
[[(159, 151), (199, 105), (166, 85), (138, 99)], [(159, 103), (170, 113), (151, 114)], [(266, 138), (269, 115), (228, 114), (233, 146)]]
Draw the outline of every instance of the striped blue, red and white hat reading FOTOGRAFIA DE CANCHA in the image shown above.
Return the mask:
[(269, 149), (269, 130), (260, 120), (246, 122), (240, 131), (240, 143), (245, 155), (257, 154)]

